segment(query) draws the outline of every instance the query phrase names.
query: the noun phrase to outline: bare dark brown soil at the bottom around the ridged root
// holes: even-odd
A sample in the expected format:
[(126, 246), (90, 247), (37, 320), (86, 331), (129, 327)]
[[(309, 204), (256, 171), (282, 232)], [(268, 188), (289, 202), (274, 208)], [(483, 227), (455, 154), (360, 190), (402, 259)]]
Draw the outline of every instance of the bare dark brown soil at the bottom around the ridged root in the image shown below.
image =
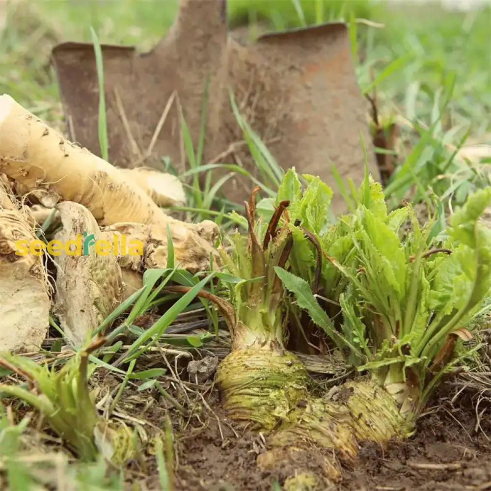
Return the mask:
[[(176, 491), (271, 491), (294, 472), (263, 472), (256, 465), (261, 436), (237, 429), (219, 408), (201, 428), (177, 436)], [(491, 490), (491, 422), (476, 426), (475, 411), (439, 408), (420, 418), (413, 437), (361, 445), (352, 464), (342, 464), (341, 481), (322, 491), (485, 491)], [(302, 462), (304, 461), (304, 462)], [(323, 456), (299, 454), (299, 467), (322, 473)], [(278, 488), (276, 488), (278, 489)], [(306, 487), (305, 490), (310, 488)], [(316, 489), (316, 491), (318, 491)]]

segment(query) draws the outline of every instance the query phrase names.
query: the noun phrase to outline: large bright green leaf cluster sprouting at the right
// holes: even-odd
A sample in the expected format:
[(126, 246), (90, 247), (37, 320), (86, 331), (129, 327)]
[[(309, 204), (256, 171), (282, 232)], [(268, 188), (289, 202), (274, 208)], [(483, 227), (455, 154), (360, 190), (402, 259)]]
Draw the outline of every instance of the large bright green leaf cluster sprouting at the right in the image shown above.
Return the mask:
[(290, 272), (276, 272), (294, 308), (359, 370), (384, 384), (410, 377), (430, 390), (468, 354), (465, 327), (490, 295), (491, 231), (479, 218), (491, 189), (469, 196), (441, 230), (441, 217), (421, 225), (409, 203), (388, 212), (382, 186), (368, 175), (352, 190), (355, 209), (332, 223), (331, 190), (303, 177), (304, 190), (290, 169), (276, 198), (291, 200)]

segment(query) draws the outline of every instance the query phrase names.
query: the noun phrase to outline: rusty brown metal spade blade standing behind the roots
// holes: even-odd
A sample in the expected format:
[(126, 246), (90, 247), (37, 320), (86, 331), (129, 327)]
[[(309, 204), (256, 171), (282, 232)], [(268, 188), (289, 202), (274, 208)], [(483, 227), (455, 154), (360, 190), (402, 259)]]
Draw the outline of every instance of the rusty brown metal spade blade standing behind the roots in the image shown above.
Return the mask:
[[(361, 182), (365, 145), (369, 170), (380, 179), (344, 23), (239, 44), (227, 30), (226, 0), (180, 0), (174, 24), (151, 52), (101, 49), (114, 165), (159, 168), (168, 156), (184, 172), (189, 163), (180, 114), (196, 148), (208, 87), (202, 163), (236, 163), (259, 175), (232, 111), (232, 89), (241, 114), (281, 167), (318, 175), (336, 191), (330, 164), (345, 179)], [(62, 43), (52, 56), (70, 137), (100, 155), (94, 46)], [(218, 168), (214, 179), (226, 172)], [(251, 187), (249, 178), (236, 174), (220, 191), (242, 203)], [(332, 205), (335, 213), (345, 210), (338, 192)]]

